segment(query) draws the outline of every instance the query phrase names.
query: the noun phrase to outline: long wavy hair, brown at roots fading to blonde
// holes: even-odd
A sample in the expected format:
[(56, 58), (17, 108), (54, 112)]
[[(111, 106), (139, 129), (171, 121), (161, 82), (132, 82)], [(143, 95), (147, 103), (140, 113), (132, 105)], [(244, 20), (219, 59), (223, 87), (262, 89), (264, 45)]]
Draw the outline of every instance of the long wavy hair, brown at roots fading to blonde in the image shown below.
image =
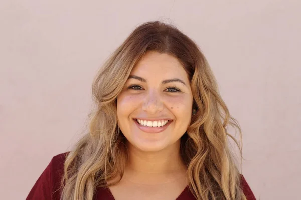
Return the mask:
[(61, 199), (92, 200), (98, 187), (114, 185), (122, 178), (128, 152), (117, 123), (117, 96), (147, 51), (176, 57), (191, 83), (193, 106), (198, 112), (181, 137), (180, 147), (190, 191), (197, 199), (246, 199), (228, 138), (236, 143), (240, 155), (242, 145), (227, 132), (232, 126), (241, 138), (241, 129), (230, 116), (210, 66), (195, 42), (173, 25), (159, 21), (136, 27), (98, 72), (92, 85), (96, 108), (88, 133), (66, 158)]

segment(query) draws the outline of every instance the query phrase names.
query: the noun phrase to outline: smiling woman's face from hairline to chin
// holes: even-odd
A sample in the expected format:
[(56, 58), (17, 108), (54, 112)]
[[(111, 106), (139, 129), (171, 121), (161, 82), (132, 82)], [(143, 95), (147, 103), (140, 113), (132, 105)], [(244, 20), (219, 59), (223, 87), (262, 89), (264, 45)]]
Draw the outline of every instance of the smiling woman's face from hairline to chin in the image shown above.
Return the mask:
[(149, 51), (117, 97), (118, 125), (129, 144), (159, 151), (180, 143), (191, 122), (190, 82), (177, 58)]

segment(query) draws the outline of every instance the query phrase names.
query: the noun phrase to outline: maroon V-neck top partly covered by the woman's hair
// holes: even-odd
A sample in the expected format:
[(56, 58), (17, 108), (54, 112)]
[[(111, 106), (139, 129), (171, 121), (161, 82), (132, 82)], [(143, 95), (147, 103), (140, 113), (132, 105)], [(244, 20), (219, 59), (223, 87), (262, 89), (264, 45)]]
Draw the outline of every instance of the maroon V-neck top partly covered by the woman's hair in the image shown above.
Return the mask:
[[(29, 192), (26, 200), (60, 200), (60, 183), (64, 172), (64, 162), (67, 153), (62, 153), (54, 156), (41, 176), (36, 181), (35, 185)], [(256, 200), (253, 192), (251, 191), (248, 183), (242, 178), (242, 189), (247, 197), (247, 200)], [(114, 197), (108, 188), (98, 188), (94, 197), (95, 200), (106, 199), (114, 200)], [(194, 196), (186, 187), (177, 200), (195, 200)]]

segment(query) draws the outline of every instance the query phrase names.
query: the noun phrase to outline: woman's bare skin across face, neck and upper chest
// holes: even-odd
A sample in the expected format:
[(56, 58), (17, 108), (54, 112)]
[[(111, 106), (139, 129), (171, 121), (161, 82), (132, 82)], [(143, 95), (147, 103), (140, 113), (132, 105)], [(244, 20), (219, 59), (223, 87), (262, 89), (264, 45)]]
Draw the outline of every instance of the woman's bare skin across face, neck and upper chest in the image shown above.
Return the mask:
[(116, 200), (176, 199), (184, 190), (180, 138), (191, 122), (192, 102), (187, 73), (175, 57), (150, 51), (135, 65), (117, 97), (129, 162), (110, 187)]

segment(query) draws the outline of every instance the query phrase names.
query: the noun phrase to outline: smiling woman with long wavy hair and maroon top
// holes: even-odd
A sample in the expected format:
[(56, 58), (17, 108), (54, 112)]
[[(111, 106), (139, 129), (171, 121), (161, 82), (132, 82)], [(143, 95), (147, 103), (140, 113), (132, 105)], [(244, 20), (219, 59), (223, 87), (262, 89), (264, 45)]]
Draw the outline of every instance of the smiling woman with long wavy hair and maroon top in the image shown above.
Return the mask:
[[(226, 131), (236, 121), (197, 45), (137, 27), (93, 83), (89, 133), (55, 156), (27, 199), (255, 199)], [(241, 151), (240, 151), (241, 152)]]

